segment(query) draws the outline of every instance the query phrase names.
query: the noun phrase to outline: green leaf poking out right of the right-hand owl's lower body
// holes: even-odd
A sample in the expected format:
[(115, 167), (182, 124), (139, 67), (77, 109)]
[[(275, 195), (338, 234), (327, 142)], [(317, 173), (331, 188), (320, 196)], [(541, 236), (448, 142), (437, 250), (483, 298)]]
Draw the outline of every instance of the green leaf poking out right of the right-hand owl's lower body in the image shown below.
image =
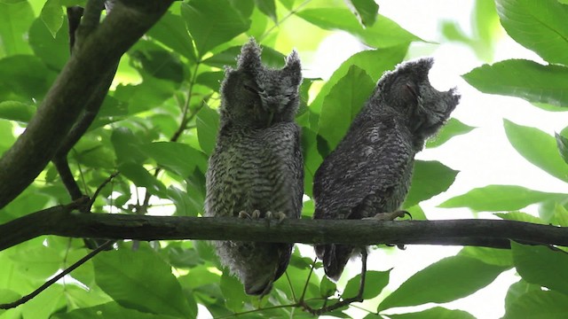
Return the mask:
[(416, 160), (410, 191), (408, 191), (403, 207), (414, 206), (422, 200), (447, 191), (458, 173), (459, 171), (446, 167), (436, 160)]

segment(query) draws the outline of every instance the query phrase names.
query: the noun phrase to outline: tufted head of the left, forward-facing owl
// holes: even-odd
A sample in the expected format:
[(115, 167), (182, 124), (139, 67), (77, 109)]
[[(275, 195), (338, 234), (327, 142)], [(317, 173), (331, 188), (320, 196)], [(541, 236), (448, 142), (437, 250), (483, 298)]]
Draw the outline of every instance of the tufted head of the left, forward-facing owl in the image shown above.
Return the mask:
[(280, 70), (265, 67), (260, 48), (251, 40), (241, 50), (238, 67), (228, 68), (221, 94), (222, 114), (251, 128), (267, 128), (281, 121), (294, 121), (298, 87), (302, 82), (300, 60), (295, 51)]

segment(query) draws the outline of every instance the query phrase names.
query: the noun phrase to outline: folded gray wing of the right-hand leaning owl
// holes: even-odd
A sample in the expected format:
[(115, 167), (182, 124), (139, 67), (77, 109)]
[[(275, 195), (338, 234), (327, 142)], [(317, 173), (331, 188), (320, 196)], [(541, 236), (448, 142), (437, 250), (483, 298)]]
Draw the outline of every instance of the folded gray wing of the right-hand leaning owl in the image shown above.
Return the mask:
[(414, 152), (407, 134), (393, 119), (351, 128), (314, 176), (315, 218), (360, 218), (351, 211), (365, 198), (387, 200), (383, 197), (411, 173)]

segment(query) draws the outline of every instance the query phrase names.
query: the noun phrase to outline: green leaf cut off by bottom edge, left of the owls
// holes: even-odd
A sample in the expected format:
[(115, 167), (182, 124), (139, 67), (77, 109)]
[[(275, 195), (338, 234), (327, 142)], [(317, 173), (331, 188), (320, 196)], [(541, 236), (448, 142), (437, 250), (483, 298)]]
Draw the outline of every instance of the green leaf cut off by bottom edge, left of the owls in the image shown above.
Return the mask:
[(106, 304), (94, 307), (82, 307), (68, 313), (62, 313), (51, 316), (54, 319), (115, 319), (115, 318), (136, 318), (136, 319), (175, 319), (179, 316), (171, 315), (154, 315), (140, 312), (135, 309), (121, 307), (116, 302), (107, 302)]

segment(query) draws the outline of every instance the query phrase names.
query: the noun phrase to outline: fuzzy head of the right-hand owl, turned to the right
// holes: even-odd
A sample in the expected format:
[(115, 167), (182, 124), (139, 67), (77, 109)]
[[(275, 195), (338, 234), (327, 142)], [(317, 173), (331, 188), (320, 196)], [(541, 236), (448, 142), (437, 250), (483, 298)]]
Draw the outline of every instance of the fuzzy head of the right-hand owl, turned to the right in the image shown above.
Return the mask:
[(412, 131), (426, 135), (435, 133), (460, 99), (455, 89), (441, 92), (430, 85), (428, 73), (433, 63), (432, 58), (407, 62), (383, 75), (378, 83), (386, 105), (404, 114)]

